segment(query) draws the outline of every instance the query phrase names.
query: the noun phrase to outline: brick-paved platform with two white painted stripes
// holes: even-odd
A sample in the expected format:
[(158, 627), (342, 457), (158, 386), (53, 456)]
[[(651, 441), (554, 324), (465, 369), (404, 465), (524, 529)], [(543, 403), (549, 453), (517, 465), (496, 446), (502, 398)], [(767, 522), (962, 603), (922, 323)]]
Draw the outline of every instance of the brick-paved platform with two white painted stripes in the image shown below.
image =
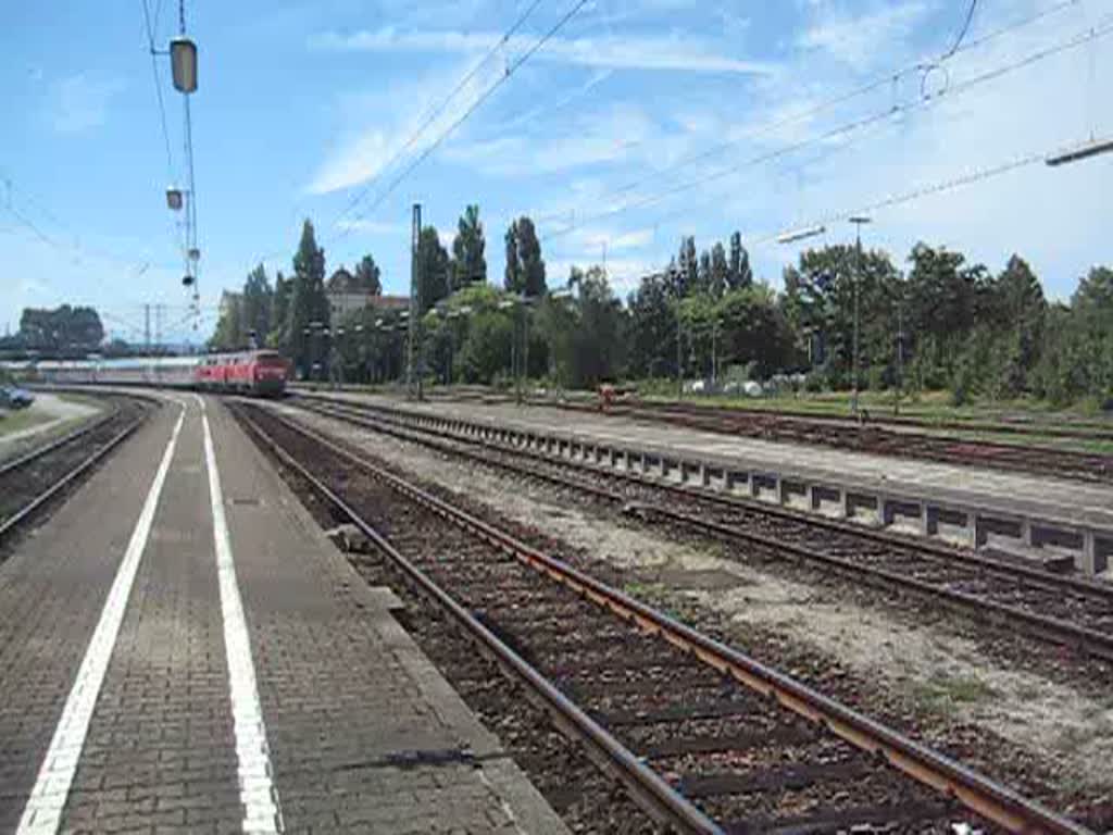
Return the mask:
[(219, 401), (0, 563), (0, 833), (565, 833)]

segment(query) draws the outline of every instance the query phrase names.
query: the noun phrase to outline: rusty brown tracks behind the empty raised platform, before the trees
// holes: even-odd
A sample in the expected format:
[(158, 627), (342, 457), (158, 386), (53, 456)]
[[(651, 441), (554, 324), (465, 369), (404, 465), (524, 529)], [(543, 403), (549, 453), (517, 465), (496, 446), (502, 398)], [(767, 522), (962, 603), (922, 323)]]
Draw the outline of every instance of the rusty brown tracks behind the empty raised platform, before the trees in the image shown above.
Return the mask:
[[(539, 403), (540, 405), (541, 403)], [(552, 403), (543, 403), (552, 406)], [(559, 404), (558, 407), (600, 414), (595, 407), (579, 404)], [(857, 424), (841, 418), (815, 415), (786, 415), (754, 410), (708, 409), (693, 405), (650, 404), (615, 405), (604, 414), (632, 420), (669, 423), (688, 429), (717, 432), (770, 441), (787, 441), (854, 450), (880, 455), (943, 461), (971, 466), (994, 466), (1004, 470), (1035, 472), (1045, 475), (1081, 481), (1113, 481), (1113, 455), (1058, 449), (1037, 444), (1007, 443), (984, 439), (972, 440), (954, 434), (927, 434), (900, 431), (887, 426), (888, 419), (877, 424)], [(915, 426), (923, 430), (965, 432), (1001, 432), (1017, 436), (1053, 436), (1073, 441), (1111, 441), (1113, 430), (1073, 430), (1060, 428), (1028, 428), (1005, 424), (964, 425), (957, 422), (940, 424), (910, 422), (894, 425)]]

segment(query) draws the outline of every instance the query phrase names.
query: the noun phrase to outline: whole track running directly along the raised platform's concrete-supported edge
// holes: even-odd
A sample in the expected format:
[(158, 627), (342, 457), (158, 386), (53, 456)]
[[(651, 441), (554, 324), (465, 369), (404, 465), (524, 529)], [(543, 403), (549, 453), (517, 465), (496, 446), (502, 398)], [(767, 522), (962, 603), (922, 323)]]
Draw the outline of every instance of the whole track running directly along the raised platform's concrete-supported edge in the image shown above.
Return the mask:
[[(648, 521), (760, 549), (771, 559), (898, 589), (952, 607), (993, 628), (1113, 661), (1113, 588), (887, 531), (798, 513), (778, 505), (554, 460), (516, 446), (411, 424), (390, 410), (302, 403), (323, 416), (539, 479), (619, 505)], [(371, 415), (375, 416), (372, 418)]]

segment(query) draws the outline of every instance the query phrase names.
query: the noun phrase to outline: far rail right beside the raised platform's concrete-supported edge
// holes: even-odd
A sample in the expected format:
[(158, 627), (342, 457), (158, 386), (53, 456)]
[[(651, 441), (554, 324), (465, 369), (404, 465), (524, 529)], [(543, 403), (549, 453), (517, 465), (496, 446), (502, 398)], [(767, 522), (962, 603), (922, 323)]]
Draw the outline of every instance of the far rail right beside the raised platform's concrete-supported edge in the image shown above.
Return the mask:
[[(304, 397), (304, 395), (298, 395), (298, 396), (299, 399)], [(850, 536), (860, 537), (863, 539), (868, 539), (874, 542), (893, 544), (899, 548), (913, 549), (924, 554), (929, 554), (936, 559), (940, 559), (943, 561), (968, 564), (972, 568), (983, 569), (986, 571), (1001, 573), (1009, 577), (1023, 577), (1025, 580), (1030, 581), (1034, 586), (1038, 586), (1040, 588), (1043, 588), (1047, 591), (1062, 591), (1065, 589), (1113, 603), (1113, 586), (1109, 583), (1101, 583), (1095, 580), (1086, 580), (1080, 577), (1064, 577), (1061, 574), (1054, 574), (1051, 573), (1050, 571), (1044, 571), (1038, 568), (1024, 566), (1015, 562), (1008, 562), (1005, 560), (998, 560), (993, 557), (987, 557), (985, 554), (976, 553), (974, 551), (957, 550), (923, 539), (910, 539), (908, 537), (902, 537), (887, 531), (879, 531), (879, 530), (873, 530), (870, 528), (864, 528), (861, 525), (856, 525), (850, 522), (841, 521), (838, 519), (827, 519), (820, 515), (816, 515), (814, 513), (802, 513), (800, 511), (792, 510), (790, 508), (784, 508), (777, 504), (770, 504), (768, 502), (761, 502), (755, 499), (746, 499), (743, 497), (738, 497), (738, 495), (721, 495), (711, 492), (709, 490), (707, 491), (693, 490), (690, 487), (686, 487), (682, 484), (672, 484), (667, 481), (661, 481), (659, 479), (646, 478), (638, 473), (621, 472), (618, 470), (602, 470), (599, 468), (587, 465), (584, 463), (577, 463), (574, 461), (567, 461), (563, 459), (553, 459), (548, 455), (542, 455), (540, 453), (533, 452), (532, 450), (521, 449), (519, 446), (492, 443), (486, 440), (479, 440), (475, 438), (471, 438), (469, 435), (461, 435), (454, 432), (447, 432), (443, 430), (434, 431), (423, 426), (414, 426), (412, 424), (406, 424), (404, 420), (400, 420), (396, 416), (396, 415), (405, 415), (406, 418), (415, 418), (415, 415), (412, 415), (412, 413), (402, 410), (391, 410), (385, 406), (371, 405), (371, 404), (365, 405), (365, 404), (347, 403), (344, 401), (337, 401), (329, 397), (309, 396), (305, 399), (319, 401), (322, 403), (332, 406), (337, 406), (339, 409), (348, 407), (352, 410), (358, 410), (364, 412), (367, 411), (386, 412), (388, 415), (391, 415), (391, 418), (388, 418), (387, 420), (394, 420), (396, 424), (405, 425), (406, 429), (408, 429), (412, 432), (424, 432), (426, 434), (433, 434), (441, 438), (451, 438), (452, 440), (460, 441), (462, 443), (486, 446), (495, 450), (511, 452), (521, 458), (528, 458), (534, 461), (542, 461), (568, 470), (597, 473), (605, 478), (611, 478), (619, 481), (626, 481), (629, 483), (644, 485), (644, 487), (651, 487), (653, 489), (661, 490), (664, 492), (670, 492), (677, 495), (696, 498), (700, 501), (718, 504), (722, 508), (729, 508), (733, 510), (746, 510), (755, 513), (762, 513), (766, 515), (778, 517), (780, 519), (788, 519), (794, 522), (799, 522), (801, 524), (806, 524), (812, 528), (837, 531), (839, 533), (847, 533)], [(332, 414), (329, 416), (342, 418), (344, 420), (358, 420), (354, 415), (349, 414)], [(539, 474), (538, 478), (543, 478), (543, 477)]]

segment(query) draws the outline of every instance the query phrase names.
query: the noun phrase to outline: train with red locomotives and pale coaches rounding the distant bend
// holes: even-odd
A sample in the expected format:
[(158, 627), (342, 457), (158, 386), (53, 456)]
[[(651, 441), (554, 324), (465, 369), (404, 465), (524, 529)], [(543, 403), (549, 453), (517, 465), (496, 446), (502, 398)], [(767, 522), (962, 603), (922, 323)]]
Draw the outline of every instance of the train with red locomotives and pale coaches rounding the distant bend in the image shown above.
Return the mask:
[(277, 351), (122, 360), (42, 360), (21, 364), (29, 380), (59, 385), (149, 385), (279, 396), (290, 364)]

